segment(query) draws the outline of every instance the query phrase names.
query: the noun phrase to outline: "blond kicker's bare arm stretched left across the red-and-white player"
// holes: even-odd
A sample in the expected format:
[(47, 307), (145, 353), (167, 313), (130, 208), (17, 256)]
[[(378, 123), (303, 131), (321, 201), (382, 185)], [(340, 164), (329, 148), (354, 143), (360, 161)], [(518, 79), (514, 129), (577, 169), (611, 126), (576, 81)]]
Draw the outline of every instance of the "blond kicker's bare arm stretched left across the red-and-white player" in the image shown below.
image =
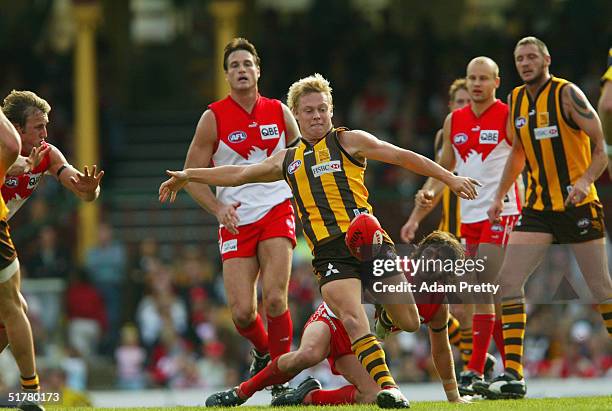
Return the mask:
[(219, 166), (214, 168), (188, 168), (183, 171), (167, 170), (170, 178), (159, 187), (159, 201), (170, 199), (188, 183), (235, 187), (247, 183), (270, 183), (283, 179), (282, 164), (287, 150), (279, 151), (258, 164), (248, 166)]

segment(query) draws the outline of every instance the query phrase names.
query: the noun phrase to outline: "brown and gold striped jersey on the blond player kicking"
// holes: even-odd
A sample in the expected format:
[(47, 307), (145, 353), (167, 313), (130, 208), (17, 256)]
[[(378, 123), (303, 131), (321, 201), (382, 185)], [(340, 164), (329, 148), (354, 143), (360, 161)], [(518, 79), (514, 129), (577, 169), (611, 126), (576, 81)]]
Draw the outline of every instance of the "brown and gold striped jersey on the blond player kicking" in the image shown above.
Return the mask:
[(338, 134), (346, 130), (334, 128), (314, 146), (302, 139), (285, 155), (283, 175), (311, 249), (344, 234), (355, 216), (372, 213), (363, 182), (366, 164), (338, 142)]

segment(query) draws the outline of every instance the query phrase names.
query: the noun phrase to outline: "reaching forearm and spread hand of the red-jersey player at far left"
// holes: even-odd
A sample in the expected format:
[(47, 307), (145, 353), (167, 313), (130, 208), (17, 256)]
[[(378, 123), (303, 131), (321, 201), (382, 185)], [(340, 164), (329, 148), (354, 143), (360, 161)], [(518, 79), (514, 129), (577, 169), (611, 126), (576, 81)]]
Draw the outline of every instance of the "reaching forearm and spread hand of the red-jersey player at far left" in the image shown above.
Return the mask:
[(83, 201), (94, 201), (100, 195), (100, 181), (104, 176), (104, 171), (98, 171), (98, 167), (84, 166), (83, 171), (79, 171), (66, 161), (66, 158), (59, 149), (51, 144), (50, 154), (51, 165), (49, 174), (55, 176), (60, 183), (74, 195)]

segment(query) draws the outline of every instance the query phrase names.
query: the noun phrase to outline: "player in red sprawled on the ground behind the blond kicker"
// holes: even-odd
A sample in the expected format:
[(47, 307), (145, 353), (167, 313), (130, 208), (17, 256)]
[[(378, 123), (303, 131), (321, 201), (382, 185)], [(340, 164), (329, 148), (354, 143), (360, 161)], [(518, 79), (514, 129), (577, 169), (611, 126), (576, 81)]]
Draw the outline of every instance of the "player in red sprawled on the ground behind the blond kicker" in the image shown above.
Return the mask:
[[(449, 252), (453, 253), (452, 256), (448, 255)], [(459, 242), (448, 233), (440, 231), (423, 239), (416, 253), (417, 256), (426, 258), (463, 258), (463, 248)], [(444, 257), (438, 257), (443, 253)], [(448, 342), (448, 304), (436, 302), (443, 298), (432, 294), (431, 300), (427, 304), (417, 304), (417, 309), (423, 323), (429, 327), (431, 353), (446, 397), (450, 402), (465, 403), (468, 401), (459, 396), (457, 389), (453, 356)], [(387, 316), (386, 313), (383, 315)], [(274, 398), (272, 405), (368, 404), (376, 401), (376, 395), (380, 391), (378, 384), (351, 350), (351, 342), (342, 322), (325, 303), (321, 303), (304, 326), (297, 351), (274, 359), (266, 368), (239, 386), (211, 395), (207, 398), (206, 405), (241, 405), (257, 391), (273, 384), (285, 383), (325, 358), (329, 361), (332, 372), (346, 378), (349, 385), (323, 390), (319, 381), (309, 377), (297, 388)]]

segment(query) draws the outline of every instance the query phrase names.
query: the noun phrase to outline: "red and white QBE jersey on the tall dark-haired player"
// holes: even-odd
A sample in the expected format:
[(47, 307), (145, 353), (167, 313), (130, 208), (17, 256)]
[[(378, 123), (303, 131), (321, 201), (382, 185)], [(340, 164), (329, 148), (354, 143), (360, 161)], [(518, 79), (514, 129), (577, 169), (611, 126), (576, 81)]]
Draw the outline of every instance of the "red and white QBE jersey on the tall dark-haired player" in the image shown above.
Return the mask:
[[(263, 96), (247, 113), (230, 96), (209, 106), (217, 121), (217, 147), (214, 165), (261, 163), (286, 147), (283, 108), (278, 100)], [(272, 207), (291, 198), (285, 181), (252, 183), (239, 187), (217, 187), (217, 198), (226, 203), (240, 201), (240, 224), (261, 219)]]

